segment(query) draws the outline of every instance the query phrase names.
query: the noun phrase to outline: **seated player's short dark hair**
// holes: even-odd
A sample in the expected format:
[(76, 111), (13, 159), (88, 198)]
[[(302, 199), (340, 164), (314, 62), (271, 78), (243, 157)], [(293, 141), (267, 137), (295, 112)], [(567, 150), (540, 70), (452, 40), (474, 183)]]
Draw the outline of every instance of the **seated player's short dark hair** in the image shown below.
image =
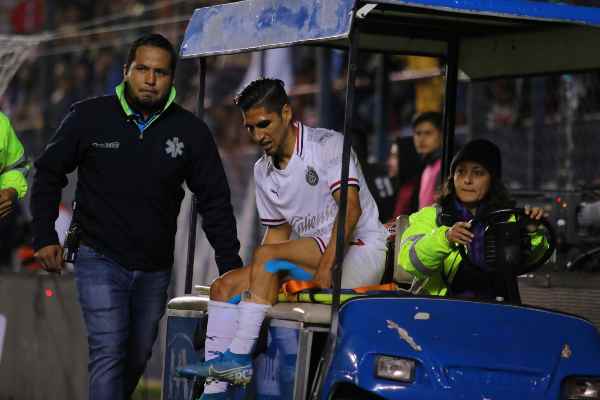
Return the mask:
[(280, 112), (290, 99), (281, 79), (259, 78), (250, 82), (238, 94), (234, 103), (246, 112), (253, 107), (264, 107), (269, 112)]

